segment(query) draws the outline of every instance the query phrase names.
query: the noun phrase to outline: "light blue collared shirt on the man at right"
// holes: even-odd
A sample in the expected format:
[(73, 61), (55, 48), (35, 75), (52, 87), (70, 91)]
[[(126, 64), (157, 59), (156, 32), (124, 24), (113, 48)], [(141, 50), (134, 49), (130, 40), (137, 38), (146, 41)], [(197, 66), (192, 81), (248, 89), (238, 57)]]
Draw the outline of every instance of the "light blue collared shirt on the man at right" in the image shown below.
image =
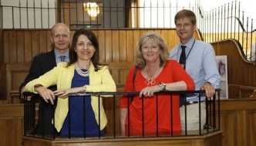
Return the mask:
[[(194, 44), (194, 46), (193, 46)], [(206, 81), (209, 81), (214, 88), (220, 87), (221, 76), (217, 70), (215, 51), (212, 45), (204, 41), (191, 38), (186, 45), (186, 71), (193, 78), (196, 85), (195, 90), (200, 90)], [(170, 51), (170, 59), (180, 60), (181, 44)], [(193, 46), (193, 47), (192, 47)], [(187, 101), (198, 101), (198, 95), (188, 95)], [(204, 100), (205, 95), (201, 100)]]

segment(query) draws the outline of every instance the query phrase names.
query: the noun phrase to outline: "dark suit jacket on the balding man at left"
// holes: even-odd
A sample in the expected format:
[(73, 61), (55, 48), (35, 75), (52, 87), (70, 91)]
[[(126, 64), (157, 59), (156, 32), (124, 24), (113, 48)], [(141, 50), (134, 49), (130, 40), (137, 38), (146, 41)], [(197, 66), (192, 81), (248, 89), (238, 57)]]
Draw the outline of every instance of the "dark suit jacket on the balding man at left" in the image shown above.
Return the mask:
[[(33, 58), (32, 65), (29, 69), (29, 75), (25, 78), (25, 81), (19, 87), (19, 93), (29, 81), (32, 81), (39, 76), (44, 75), (45, 72), (50, 71), (52, 68), (56, 67), (56, 57), (54, 49), (52, 51), (37, 55)], [(57, 89), (56, 85), (49, 87), (52, 91)], [(56, 98), (57, 99), (57, 98)], [(57, 100), (56, 100), (57, 101)], [(37, 128), (35, 129), (36, 134), (53, 134), (56, 131), (52, 125), (52, 118), (56, 108), (55, 105), (51, 103), (46, 103), (42, 99), (39, 103), (39, 122)]]

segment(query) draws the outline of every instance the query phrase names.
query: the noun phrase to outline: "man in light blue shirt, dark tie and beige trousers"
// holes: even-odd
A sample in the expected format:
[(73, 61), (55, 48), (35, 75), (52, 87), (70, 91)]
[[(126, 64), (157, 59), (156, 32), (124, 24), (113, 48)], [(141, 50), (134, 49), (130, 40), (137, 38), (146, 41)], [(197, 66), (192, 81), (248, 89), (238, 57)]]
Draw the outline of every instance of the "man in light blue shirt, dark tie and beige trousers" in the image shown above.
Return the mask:
[[(196, 89), (205, 90), (205, 96), (211, 98), (215, 94), (215, 88), (219, 88), (220, 75), (217, 70), (215, 52), (212, 45), (204, 41), (196, 40), (193, 35), (197, 28), (197, 18), (190, 10), (181, 10), (175, 15), (176, 32), (180, 38), (180, 44), (170, 51), (170, 59), (180, 60), (184, 46), (186, 52), (185, 62), (182, 63), (187, 73), (194, 79)], [(180, 107), (181, 129), (185, 131), (203, 130), (206, 122), (205, 96), (187, 95), (187, 102)], [(200, 124), (199, 124), (200, 104)], [(187, 106), (187, 120), (185, 121), (185, 107)]]

